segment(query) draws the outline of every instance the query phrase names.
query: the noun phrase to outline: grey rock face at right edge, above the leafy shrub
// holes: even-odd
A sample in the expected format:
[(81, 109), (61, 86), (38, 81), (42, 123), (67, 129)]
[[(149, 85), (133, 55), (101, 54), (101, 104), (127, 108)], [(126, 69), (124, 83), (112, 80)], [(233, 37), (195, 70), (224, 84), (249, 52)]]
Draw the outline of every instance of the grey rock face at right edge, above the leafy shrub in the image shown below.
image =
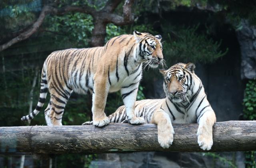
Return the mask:
[(248, 21), (242, 21), (242, 28), (237, 31), (242, 55), (241, 78), (256, 78), (256, 26), (250, 26)]

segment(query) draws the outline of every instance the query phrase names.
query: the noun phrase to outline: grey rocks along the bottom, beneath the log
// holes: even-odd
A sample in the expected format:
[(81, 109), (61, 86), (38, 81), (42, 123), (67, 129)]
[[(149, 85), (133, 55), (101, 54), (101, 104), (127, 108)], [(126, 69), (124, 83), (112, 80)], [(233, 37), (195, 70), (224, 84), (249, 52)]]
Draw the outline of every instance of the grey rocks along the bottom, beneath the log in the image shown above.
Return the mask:
[[(221, 158), (221, 159), (220, 159)], [(222, 160), (222, 161), (220, 161)], [(191, 152), (140, 152), (131, 154), (101, 154), (90, 167), (97, 168), (245, 168), (243, 152), (221, 154)]]

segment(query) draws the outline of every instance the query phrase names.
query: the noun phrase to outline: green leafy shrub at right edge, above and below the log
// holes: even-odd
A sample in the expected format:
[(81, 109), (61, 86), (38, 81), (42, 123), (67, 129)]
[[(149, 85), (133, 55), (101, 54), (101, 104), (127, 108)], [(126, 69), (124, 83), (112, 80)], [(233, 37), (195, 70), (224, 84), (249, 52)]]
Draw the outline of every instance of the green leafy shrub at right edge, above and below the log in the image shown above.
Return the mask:
[[(256, 79), (249, 80), (244, 91), (244, 118), (256, 120)], [(246, 167), (256, 168), (256, 151), (245, 152)]]

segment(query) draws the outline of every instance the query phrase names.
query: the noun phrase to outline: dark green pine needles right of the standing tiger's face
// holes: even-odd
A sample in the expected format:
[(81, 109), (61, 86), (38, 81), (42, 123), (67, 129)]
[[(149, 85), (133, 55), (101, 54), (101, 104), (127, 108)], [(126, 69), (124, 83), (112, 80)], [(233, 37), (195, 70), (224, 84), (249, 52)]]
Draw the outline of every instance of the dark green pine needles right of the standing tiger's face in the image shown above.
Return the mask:
[(214, 42), (204, 33), (197, 34), (198, 26), (191, 28), (166, 26), (164, 28), (164, 37), (167, 39), (164, 39), (166, 41), (163, 43), (163, 53), (168, 64), (211, 63), (228, 52), (228, 49), (224, 52), (220, 50), (221, 42)]

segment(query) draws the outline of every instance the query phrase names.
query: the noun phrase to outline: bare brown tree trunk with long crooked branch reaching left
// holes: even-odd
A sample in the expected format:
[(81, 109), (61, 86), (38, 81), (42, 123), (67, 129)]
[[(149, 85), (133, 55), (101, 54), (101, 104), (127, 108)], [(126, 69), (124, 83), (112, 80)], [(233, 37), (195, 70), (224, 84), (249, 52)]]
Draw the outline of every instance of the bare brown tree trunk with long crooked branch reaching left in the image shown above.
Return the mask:
[(18, 43), (22, 40), (26, 40), (32, 34), (38, 31), (39, 27), (42, 25), (47, 14), (55, 14), (55, 15), (63, 15), (67, 12), (81, 12), (86, 14), (91, 14), (94, 18), (94, 30), (92, 32), (92, 46), (102, 46), (104, 45), (104, 38), (106, 36), (106, 24), (113, 23), (116, 25), (125, 25), (133, 22), (132, 16), (132, 4), (134, 0), (125, 0), (123, 6), (123, 16), (119, 16), (117, 14), (113, 14), (115, 8), (120, 4), (121, 0), (108, 0), (106, 6), (100, 10), (96, 11), (94, 8), (90, 6), (65, 6), (63, 8), (54, 8), (52, 6), (44, 6), (42, 9), (40, 16), (34, 22), (32, 27), (16, 38), (13, 38), (7, 43), (0, 45), (0, 51), (12, 46), (15, 43)]

